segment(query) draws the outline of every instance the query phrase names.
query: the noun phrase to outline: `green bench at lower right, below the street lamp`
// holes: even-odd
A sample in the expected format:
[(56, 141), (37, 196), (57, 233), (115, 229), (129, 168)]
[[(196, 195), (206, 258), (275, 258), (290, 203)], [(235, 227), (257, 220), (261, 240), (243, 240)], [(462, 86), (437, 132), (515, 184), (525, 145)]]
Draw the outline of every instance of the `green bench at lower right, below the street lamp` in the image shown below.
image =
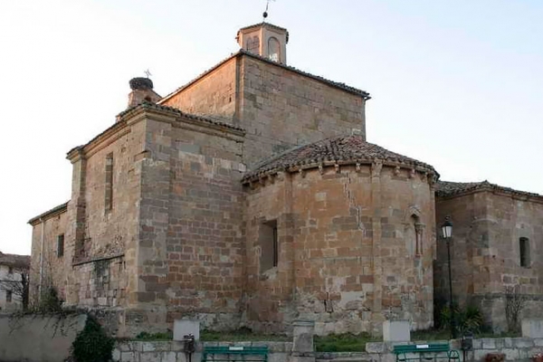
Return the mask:
[[(448, 359), (460, 361), (460, 352), (451, 349), (448, 343), (428, 343), (420, 345), (397, 345), (394, 347), (396, 362)], [(411, 355), (411, 356), (410, 356)]]

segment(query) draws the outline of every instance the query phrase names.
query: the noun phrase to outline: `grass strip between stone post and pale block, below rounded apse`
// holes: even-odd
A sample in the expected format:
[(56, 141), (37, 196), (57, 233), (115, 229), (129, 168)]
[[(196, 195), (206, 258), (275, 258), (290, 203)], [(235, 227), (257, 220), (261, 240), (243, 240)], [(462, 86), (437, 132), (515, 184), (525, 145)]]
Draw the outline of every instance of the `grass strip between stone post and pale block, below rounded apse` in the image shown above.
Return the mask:
[(364, 352), (367, 342), (378, 341), (381, 338), (371, 337), (369, 333), (330, 334), (315, 336), (315, 349), (317, 352)]

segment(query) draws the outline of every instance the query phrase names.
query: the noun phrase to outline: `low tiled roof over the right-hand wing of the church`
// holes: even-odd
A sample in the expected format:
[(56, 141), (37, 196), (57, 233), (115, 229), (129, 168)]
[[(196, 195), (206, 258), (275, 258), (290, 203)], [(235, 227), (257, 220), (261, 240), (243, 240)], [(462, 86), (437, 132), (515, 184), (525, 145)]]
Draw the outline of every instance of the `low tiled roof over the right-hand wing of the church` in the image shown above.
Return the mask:
[(487, 180), (481, 182), (450, 182), (439, 181), (435, 187), (435, 194), (440, 197), (449, 197), (455, 195), (466, 195), (472, 192), (499, 192), (501, 194), (517, 195), (525, 197), (534, 197), (543, 201), (543, 195), (529, 193), (526, 191), (515, 190), (510, 187), (491, 184)]

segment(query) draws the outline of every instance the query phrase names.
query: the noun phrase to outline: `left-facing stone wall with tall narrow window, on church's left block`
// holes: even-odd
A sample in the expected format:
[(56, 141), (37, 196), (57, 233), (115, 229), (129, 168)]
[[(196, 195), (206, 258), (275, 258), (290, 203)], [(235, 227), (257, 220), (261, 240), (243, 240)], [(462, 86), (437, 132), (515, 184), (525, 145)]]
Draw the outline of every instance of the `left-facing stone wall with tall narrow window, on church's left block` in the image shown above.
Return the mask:
[[(143, 129), (142, 121), (119, 120), (93, 142), (69, 154), (73, 173), (65, 236), (66, 305), (126, 308), (130, 291), (137, 288)], [(108, 207), (106, 164), (111, 156)], [(124, 335), (120, 328), (119, 336)]]

